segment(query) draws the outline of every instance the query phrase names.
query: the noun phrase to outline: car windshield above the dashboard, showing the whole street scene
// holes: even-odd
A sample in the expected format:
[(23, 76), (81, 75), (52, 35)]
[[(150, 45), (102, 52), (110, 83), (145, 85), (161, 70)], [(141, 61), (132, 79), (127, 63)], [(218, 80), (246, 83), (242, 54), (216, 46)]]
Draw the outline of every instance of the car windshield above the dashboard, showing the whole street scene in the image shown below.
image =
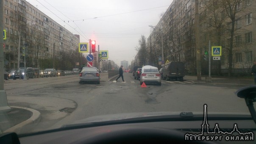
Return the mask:
[(0, 132), (94, 116), (203, 114), (204, 104), (209, 114), (250, 115), (235, 92), (256, 84), (256, 1), (231, 2), (239, 8), (232, 19), (214, 0), (200, 2), (198, 14), (194, 0), (4, 0), (0, 68), (45, 71), (1, 78)]

